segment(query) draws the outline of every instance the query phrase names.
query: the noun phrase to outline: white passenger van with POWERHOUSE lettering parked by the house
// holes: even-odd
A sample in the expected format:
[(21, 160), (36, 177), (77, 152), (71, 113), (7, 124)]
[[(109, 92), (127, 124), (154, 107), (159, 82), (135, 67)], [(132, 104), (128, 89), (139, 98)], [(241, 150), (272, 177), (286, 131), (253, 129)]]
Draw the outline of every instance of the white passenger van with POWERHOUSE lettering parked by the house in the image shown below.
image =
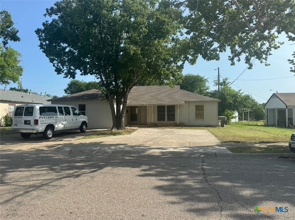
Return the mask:
[(12, 113), (12, 131), (23, 138), (42, 133), (45, 139), (50, 139), (54, 132), (80, 129), (83, 133), (87, 127), (87, 117), (69, 105), (18, 105)]

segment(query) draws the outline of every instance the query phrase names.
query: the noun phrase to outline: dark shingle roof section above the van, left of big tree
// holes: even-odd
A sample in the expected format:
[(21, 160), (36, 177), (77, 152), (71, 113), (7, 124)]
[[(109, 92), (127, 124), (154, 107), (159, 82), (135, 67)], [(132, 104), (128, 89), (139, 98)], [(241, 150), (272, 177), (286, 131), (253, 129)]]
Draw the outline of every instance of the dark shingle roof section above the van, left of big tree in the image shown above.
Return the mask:
[(50, 101), (106, 101), (106, 97), (97, 89), (91, 89), (84, 92), (75, 93), (68, 96), (62, 96)]

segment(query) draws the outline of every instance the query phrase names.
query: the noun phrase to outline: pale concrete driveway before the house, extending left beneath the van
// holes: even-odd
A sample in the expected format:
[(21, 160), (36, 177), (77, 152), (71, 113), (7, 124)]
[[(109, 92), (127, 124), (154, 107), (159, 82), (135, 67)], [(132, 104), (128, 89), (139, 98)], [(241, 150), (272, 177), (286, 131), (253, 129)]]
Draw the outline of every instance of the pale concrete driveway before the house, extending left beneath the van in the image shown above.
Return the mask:
[(225, 145), (207, 130), (140, 128), (128, 135), (76, 140), (96, 131), (57, 133), (49, 140), (43, 139), (42, 135), (32, 135), (28, 139), (20, 137), (19, 134), (5, 135), (1, 136), (1, 149), (53, 150), (59, 147), (62, 150), (79, 152), (140, 150), (230, 153)]

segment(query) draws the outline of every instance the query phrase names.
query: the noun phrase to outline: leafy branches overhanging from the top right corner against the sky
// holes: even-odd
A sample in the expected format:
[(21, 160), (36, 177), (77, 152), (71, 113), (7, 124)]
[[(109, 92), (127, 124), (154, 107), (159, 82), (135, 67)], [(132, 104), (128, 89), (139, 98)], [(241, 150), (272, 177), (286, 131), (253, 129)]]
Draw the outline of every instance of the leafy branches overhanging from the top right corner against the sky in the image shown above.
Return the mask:
[[(174, 5), (186, 8), (183, 24), (188, 37), (183, 50), (189, 51), (191, 64), (199, 56), (219, 60), (219, 54), (229, 50), (231, 65), (244, 59), (251, 69), (255, 59), (269, 65), (271, 50), (282, 44), (277, 42), (281, 33), (295, 41), (294, 0), (176, 0)], [(295, 59), (295, 52), (292, 56)], [(289, 60), (292, 72), (294, 59)]]

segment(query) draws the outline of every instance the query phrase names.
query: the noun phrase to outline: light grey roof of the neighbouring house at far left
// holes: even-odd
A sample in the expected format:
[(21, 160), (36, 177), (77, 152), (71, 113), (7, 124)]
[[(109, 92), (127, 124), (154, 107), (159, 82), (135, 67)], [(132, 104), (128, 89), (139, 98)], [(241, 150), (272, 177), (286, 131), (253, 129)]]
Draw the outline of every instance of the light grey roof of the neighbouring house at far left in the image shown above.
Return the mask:
[(0, 100), (11, 102), (24, 102), (30, 104), (51, 104), (50, 97), (40, 96), (36, 94), (27, 94), (25, 92), (17, 92), (12, 90), (0, 89)]

